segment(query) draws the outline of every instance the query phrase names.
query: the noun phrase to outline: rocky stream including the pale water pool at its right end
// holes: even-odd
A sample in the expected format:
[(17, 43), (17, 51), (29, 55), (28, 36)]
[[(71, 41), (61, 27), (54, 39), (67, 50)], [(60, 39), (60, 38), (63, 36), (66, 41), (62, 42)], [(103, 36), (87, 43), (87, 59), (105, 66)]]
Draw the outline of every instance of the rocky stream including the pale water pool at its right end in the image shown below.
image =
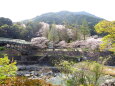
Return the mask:
[(56, 67), (47, 65), (17, 65), (17, 76), (25, 76), (30, 79), (43, 79), (54, 85), (66, 86), (65, 75), (60, 73)]

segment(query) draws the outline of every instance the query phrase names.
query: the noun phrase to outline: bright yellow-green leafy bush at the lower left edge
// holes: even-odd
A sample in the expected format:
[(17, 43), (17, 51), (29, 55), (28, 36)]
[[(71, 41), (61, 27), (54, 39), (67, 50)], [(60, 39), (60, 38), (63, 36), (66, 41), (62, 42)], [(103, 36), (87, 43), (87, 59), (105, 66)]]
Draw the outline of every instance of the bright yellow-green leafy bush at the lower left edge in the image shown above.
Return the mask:
[(0, 83), (7, 77), (14, 76), (16, 71), (16, 62), (10, 63), (7, 55), (4, 55), (4, 58), (0, 58)]

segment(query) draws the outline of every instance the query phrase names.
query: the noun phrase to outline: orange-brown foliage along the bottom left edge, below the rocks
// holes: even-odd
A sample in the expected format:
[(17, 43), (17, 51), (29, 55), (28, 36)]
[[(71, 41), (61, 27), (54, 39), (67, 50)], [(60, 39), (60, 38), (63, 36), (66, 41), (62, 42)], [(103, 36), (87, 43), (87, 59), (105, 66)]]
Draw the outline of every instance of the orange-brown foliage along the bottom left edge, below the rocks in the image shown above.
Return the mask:
[(28, 79), (26, 77), (12, 77), (5, 80), (0, 86), (54, 86), (41, 79)]

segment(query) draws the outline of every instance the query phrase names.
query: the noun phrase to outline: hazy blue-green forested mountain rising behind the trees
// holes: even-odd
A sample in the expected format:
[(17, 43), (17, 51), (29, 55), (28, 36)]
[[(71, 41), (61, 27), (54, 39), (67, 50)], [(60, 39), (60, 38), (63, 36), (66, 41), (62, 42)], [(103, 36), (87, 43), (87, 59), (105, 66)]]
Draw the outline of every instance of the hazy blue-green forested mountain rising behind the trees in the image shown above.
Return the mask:
[[(81, 25), (82, 20), (86, 19), (88, 24), (94, 25), (98, 23), (102, 18), (99, 18), (93, 14), (81, 11), (81, 12), (69, 12), (69, 11), (61, 11), (61, 12), (50, 12), (46, 14), (42, 14), (37, 16), (32, 21), (35, 22), (46, 22), (49, 24), (77, 24)], [(25, 20), (28, 21), (28, 20)]]

